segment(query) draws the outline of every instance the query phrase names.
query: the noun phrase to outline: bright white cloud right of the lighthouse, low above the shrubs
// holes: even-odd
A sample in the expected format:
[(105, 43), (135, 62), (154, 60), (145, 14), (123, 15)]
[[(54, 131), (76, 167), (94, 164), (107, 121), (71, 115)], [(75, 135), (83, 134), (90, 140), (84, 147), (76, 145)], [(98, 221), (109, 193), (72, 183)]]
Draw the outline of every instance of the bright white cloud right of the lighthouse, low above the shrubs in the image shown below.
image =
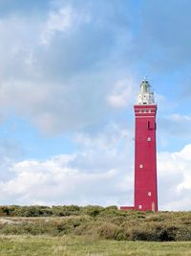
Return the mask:
[[(159, 200), (163, 210), (191, 207), (191, 144), (181, 151), (158, 154)], [(186, 202), (186, 203), (185, 203)]]

